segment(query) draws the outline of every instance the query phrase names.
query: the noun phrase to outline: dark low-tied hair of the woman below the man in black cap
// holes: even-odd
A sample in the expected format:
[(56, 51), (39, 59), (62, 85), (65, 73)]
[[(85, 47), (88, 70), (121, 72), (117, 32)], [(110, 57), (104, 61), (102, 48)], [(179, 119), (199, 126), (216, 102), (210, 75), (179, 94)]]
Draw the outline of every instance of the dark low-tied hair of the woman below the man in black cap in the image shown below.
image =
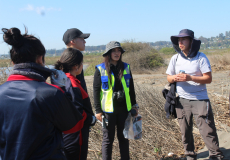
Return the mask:
[(62, 70), (67, 73), (72, 70), (73, 66), (80, 65), (83, 61), (83, 55), (81, 51), (75, 48), (67, 48), (61, 54), (60, 60), (58, 60), (54, 67), (55, 69)]

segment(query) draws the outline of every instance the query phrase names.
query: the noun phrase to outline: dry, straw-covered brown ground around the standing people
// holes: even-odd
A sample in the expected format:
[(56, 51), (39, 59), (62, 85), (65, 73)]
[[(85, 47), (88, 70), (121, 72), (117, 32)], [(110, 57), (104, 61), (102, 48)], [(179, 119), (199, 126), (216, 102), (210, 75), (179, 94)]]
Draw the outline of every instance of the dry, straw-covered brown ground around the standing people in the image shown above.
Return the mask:
[[(228, 112), (229, 73), (218, 71), (213, 73), (213, 82), (207, 85), (209, 97), (215, 113), (215, 122), (218, 130), (227, 131), (223, 124), (230, 126)], [(143, 116), (143, 138), (138, 141), (130, 141), (131, 159), (160, 159), (166, 158), (168, 153), (176, 154), (175, 158), (183, 157), (181, 134), (176, 120), (166, 119), (164, 112), (165, 100), (161, 90), (167, 84), (166, 75), (142, 74), (133, 75), (137, 103), (140, 106), (140, 114)], [(93, 104), (93, 76), (86, 76), (86, 83)], [(196, 151), (204, 147), (204, 142), (199, 131), (194, 126)], [(99, 123), (91, 129), (89, 139), (88, 159), (101, 159), (102, 130)], [(154, 149), (160, 148), (160, 152)], [(120, 159), (119, 145), (115, 138), (113, 145), (113, 159)], [(183, 158), (181, 158), (183, 159)]]

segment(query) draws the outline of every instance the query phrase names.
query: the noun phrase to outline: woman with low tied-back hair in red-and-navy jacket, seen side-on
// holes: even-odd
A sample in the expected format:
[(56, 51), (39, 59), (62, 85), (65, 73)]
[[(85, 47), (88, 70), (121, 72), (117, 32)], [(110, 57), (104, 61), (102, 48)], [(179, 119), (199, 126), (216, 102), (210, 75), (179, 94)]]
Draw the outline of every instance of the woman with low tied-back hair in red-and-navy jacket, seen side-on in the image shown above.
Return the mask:
[[(72, 102), (77, 104), (76, 108), (79, 109), (83, 117), (87, 117), (84, 120), (83, 128), (79, 132), (63, 134), (65, 155), (68, 160), (86, 160), (89, 128), (95, 124), (96, 118), (92, 111), (89, 96), (82, 88), (81, 82), (76, 78), (83, 69), (82, 53), (77, 49), (67, 48), (62, 53), (60, 60), (56, 62), (55, 69), (65, 72), (68, 77), (65, 83), (66, 94), (71, 95)], [(52, 81), (55, 81), (54, 76)]]

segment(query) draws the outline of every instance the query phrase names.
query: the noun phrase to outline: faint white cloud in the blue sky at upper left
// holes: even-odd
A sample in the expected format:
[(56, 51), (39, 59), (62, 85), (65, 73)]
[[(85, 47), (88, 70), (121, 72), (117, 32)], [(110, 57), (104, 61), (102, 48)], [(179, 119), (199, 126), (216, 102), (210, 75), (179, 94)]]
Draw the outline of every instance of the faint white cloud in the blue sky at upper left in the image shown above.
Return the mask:
[(33, 5), (28, 4), (25, 8), (21, 8), (20, 11), (34, 11), (37, 14), (44, 15), (46, 11), (61, 11), (61, 8), (46, 8), (44, 6), (34, 7)]

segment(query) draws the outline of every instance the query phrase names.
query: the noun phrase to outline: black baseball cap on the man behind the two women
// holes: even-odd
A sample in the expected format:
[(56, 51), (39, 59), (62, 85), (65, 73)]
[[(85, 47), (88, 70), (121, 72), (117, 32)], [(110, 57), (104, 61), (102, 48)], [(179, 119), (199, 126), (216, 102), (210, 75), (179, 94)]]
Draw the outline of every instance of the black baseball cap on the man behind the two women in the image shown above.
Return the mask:
[(77, 28), (71, 28), (67, 29), (67, 31), (63, 35), (63, 41), (65, 44), (69, 44), (70, 41), (72, 41), (75, 38), (88, 38), (90, 36), (90, 33), (82, 33), (79, 29)]

